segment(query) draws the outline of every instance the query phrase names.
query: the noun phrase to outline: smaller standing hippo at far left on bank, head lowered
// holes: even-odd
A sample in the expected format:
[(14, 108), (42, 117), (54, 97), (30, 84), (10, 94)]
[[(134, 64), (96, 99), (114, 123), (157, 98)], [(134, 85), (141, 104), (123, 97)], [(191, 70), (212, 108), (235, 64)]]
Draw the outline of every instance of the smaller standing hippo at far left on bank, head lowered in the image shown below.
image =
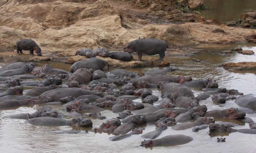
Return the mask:
[(29, 50), (30, 55), (34, 55), (34, 51), (35, 51), (38, 56), (42, 56), (41, 48), (37, 45), (37, 43), (34, 40), (20, 39), (17, 41), (16, 46), (17, 46), (17, 54), (19, 54), (19, 52), (23, 54), (22, 50)]

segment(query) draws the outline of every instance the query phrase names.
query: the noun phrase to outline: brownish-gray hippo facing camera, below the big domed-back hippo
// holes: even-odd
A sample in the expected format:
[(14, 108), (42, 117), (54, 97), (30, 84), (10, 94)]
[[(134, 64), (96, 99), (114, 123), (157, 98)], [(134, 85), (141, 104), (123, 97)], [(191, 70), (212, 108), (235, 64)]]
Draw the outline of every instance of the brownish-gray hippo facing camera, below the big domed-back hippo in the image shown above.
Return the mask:
[(80, 84), (85, 84), (91, 81), (92, 74), (86, 68), (77, 69), (69, 76), (69, 87), (79, 87)]

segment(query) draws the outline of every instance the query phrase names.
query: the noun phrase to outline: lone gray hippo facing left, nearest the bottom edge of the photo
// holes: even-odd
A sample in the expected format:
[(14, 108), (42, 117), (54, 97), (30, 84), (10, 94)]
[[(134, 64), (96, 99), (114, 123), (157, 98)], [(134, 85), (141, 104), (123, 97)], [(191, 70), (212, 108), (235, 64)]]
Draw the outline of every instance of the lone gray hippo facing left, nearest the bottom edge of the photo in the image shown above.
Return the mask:
[(160, 139), (155, 140), (147, 140), (141, 142), (142, 147), (158, 147), (158, 146), (176, 146), (181, 144), (186, 144), (188, 142), (191, 142), (193, 140), (192, 137), (186, 136), (186, 135), (168, 135), (165, 137), (162, 137)]

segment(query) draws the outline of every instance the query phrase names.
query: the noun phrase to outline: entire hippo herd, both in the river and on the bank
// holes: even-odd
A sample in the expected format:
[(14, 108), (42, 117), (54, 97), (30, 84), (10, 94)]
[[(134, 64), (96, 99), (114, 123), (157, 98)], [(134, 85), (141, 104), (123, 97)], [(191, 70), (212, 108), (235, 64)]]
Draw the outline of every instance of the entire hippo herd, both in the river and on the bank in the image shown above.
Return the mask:
[[(143, 46), (147, 41), (134, 40), (124, 47), (124, 52), (137, 52), (139, 60), (142, 54), (155, 55), (157, 52), (161, 61), (167, 44), (162, 40), (150, 39), (151, 46)], [(40, 47), (33, 40), (19, 40), (17, 52), (19, 50), (22, 54), (22, 49), (29, 50), (30, 54), (35, 51), (37, 55), (41, 55)], [(25, 119), (33, 125), (87, 127), (90, 132), (115, 135), (110, 137), (111, 141), (142, 134), (145, 125), (153, 123), (155, 130), (141, 136), (147, 139), (141, 142), (140, 146), (143, 147), (174, 146), (193, 141), (192, 137), (186, 135), (161, 137), (169, 127), (173, 130), (193, 128), (191, 132), (209, 128), (209, 135), (231, 132), (256, 134), (256, 123), (245, 117), (246, 113), (254, 113), (256, 109), (256, 97), (253, 95), (244, 95), (235, 89), (219, 88), (215, 80), (207, 78), (165, 75), (178, 70), (171, 67), (152, 70), (143, 76), (123, 69), (109, 71), (108, 63), (95, 57), (108, 56), (124, 61), (132, 59), (128, 56), (123, 58), (122, 53), (110, 54), (104, 48), (95, 51), (88, 48), (78, 50), (76, 55), (89, 58), (75, 62), (70, 71), (56, 69), (49, 64), (37, 67), (34, 62), (5, 65), (0, 69), (0, 109), (43, 104), (44, 107), (34, 113), (23, 112), (7, 117)], [(42, 81), (35, 81), (35, 78)], [(23, 90), (24, 87), (26, 90)], [(191, 88), (199, 88), (204, 92), (195, 96)], [(153, 95), (153, 90), (160, 90), (161, 98)], [(209, 111), (207, 106), (200, 103), (209, 97), (217, 105), (235, 99), (235, 104), (241, 107)], [(64, 115), (50, 107), (52, 104), (62, 105), (72, 119), (65, 120)], [(100, 112), (106, 109), (116, 113), (116, 118), (102, 116)], [(93, 127), (90, 118), (107, 121), (99, 127)], [(229, 119), (230, 122), (215, 123), (223, 119)], [(233, 128), (238, 126), (236, 120), (248, 123), (250, 128)], [(55, 132), (79, 133), (78, 130)], [(218, 142), (225, 140), (226, 138), (217, 139)]]

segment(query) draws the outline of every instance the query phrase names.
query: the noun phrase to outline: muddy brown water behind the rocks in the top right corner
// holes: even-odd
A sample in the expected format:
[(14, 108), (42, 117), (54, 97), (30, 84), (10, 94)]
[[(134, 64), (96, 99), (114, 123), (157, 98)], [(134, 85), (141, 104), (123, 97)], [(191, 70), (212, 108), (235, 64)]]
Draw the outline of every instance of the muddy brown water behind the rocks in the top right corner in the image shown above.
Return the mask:
[(203, 10), (206, 18), (216, 18), (221, 22), (237, 21), (242, 13), (256, 11), (255, 0), (206, 0)]

